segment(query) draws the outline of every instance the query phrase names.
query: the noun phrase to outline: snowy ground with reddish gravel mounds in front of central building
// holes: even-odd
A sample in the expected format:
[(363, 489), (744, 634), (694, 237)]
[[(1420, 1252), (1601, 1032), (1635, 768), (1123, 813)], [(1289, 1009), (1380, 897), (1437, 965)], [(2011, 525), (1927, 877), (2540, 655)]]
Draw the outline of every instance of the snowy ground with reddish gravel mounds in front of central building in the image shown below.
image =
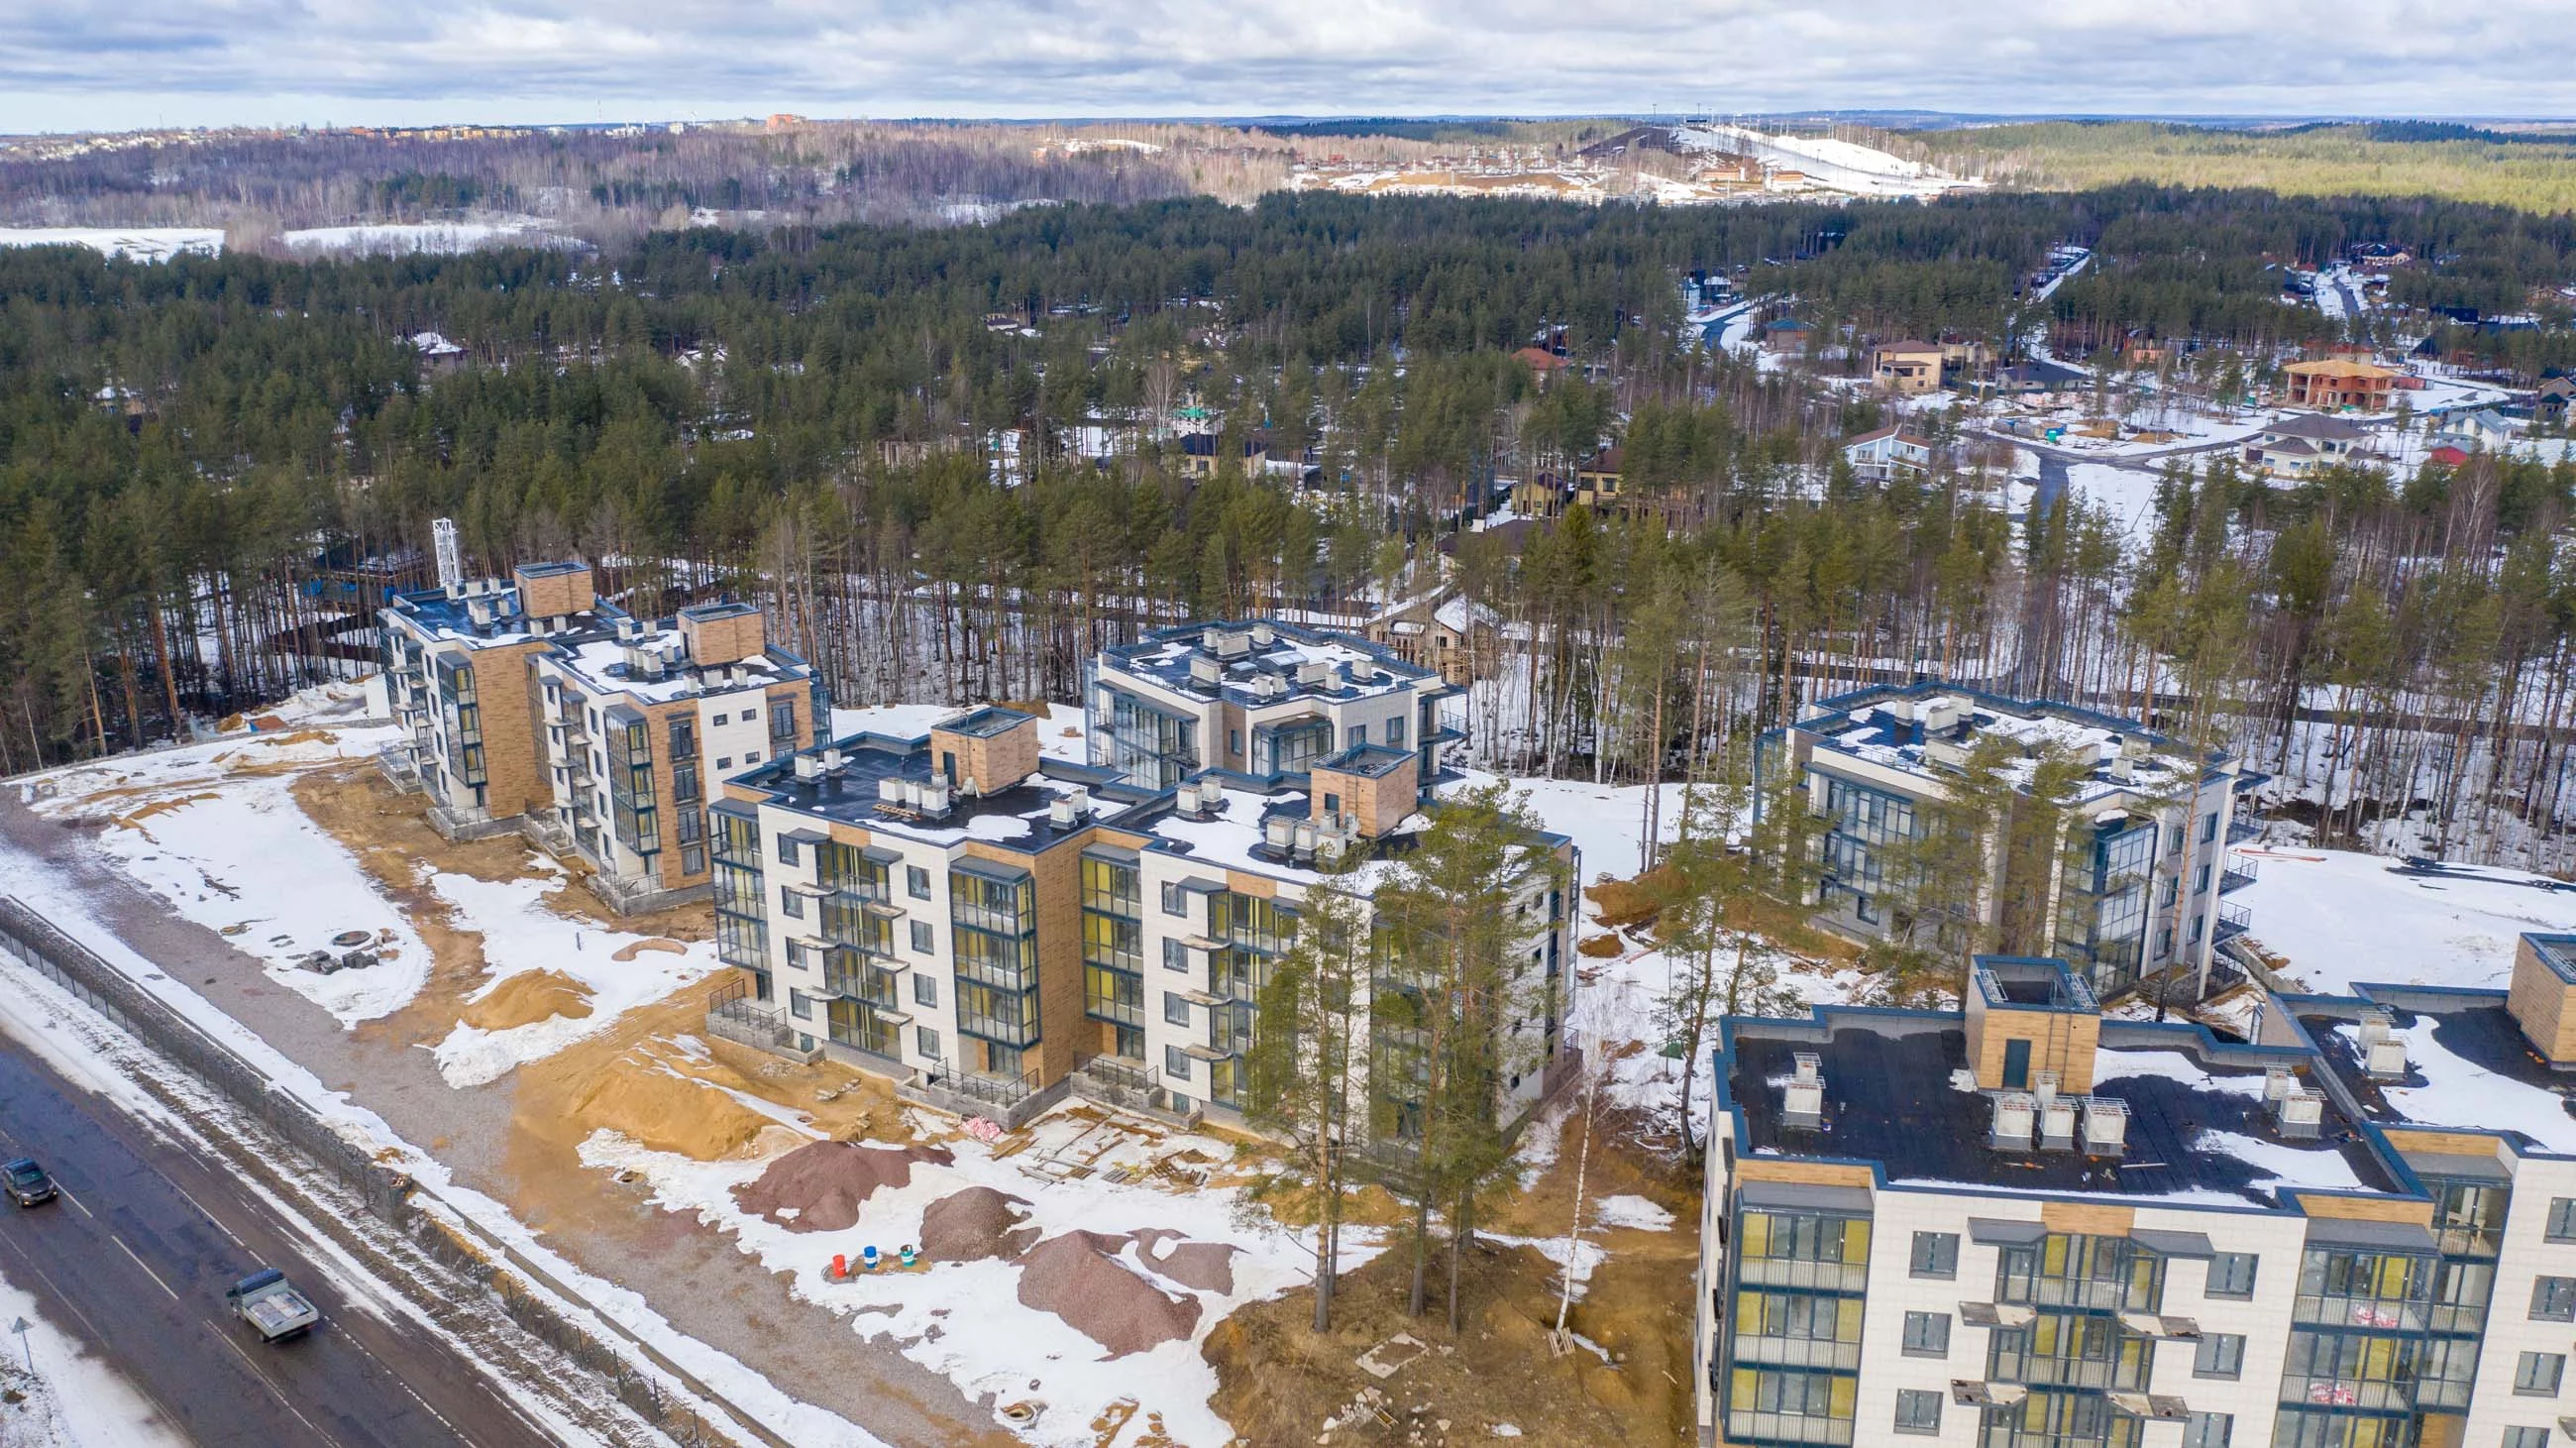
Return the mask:
[[(582, 1159), (641, 1172), (654, 1206), (724, 1229), (762, 1273), (783, 1273), (799, 1299), (848, 1317), (860, 1335), (891, 1337), (907, 1358), (969, 1396), (1033, 1404), (1036, 1415), (1018, 1425), (1030, 1443), (1118, 1440), (1095, 1420), (1121, 1412), (1159, 1417), (1167, 1435), (1159, 1440), (1170, 1443), (1216, 1448), (1234, 1438), (1208, 1407), (1216, 1368), (1200, 1342), (1236, 1306), (1303, 1286), (1314, 1237), (1249, 1229), (1239, 1219), (1239, 1188), (1188, 1185), (1154, 1170), (1177, 1162), (1182, 1172), (1203, 1172), (1231, 1162), (1231, 1144), (1066, 1105), (1033, 1121), (1030, 1141), (1005, 1159), (945, 1118), (914, 1110), (912, 1123), (935, 1139), (933, 1149), (817, 1141), (768, 1159), (693, 1162), (598, 1134)], [(814, 1216), (829, 1201), (768, 1214), (737, 1201), (737, 1193), (757, 1201), (755, 1183), (770, 1172), (796, 1172), (801, 1152), (817, 1162), (873, 1157), (868, 1167), (899, 1180), (873, 1190), (858, 1183), (858, 1201), (822, 1226)], [(994, 1206), (1005, 1239), (925, 1221), (961, 1211), (943, 1203)], [(1376, 1239), (1376, 1232), (1345, 1232), (1345, 1268), (1373, 1257)], [(871, 1244), (886, 1260), (881, 1270), (832, 1278), (835, 1255), (855, 1262)], [(951, 1260), (899, 1270), (904, 1247)], [(984, 1247), (992, 1255), (956, 1260)]]

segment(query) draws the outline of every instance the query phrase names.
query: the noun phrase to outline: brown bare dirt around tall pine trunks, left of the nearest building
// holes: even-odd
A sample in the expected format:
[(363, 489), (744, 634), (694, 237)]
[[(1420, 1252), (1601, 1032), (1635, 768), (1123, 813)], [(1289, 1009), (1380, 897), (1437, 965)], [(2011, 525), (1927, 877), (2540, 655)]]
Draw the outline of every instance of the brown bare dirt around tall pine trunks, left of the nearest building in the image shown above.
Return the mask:
[[(1502, 1425), (1525, 1443), (1682, 1443), (1690, 1425), (1692, 1172), (1641, 1149), (1641, 1123), (1595, 1121), (1584, 1196), (1643, 1196), (1674, 1214), (1669, 1232), (1587, 1232), (1610, 1252), (1566, 1314), (1600, 1353), (1548, 1348), (1558, 1270), (1533, 1247), (1479, 1242), (1461, 1260), (1463, 1329), (1448, 1329), (1448, 1260), (1430, 1262), (1430, 1311), (1406, 1317), (1412, 1252), (1399, 1239), (1334, 1291), (1332, 1332), (1316, 1335), (1314, 1291), (1236, 1311), (1206, 1342), (1218, 1412), (1242, 1443), (1437, 1445), (1492, 1443)], [(1569, 1113), (1556, 1165), (1497, 1208), (1492, 1232), (1561, 1237), (1574, 1208), (1579, 1113)], [(1437, 1229), (1435, 1229), (1437, 1234)], [(1409, 1332), (1422, 1355), (1388, 1378), (1358, 1358)], [(1401, 1350), (1399, 1350), (1401, 1353)], [(1329, 1435), (1329, 1438), (1327, 1438)]]

